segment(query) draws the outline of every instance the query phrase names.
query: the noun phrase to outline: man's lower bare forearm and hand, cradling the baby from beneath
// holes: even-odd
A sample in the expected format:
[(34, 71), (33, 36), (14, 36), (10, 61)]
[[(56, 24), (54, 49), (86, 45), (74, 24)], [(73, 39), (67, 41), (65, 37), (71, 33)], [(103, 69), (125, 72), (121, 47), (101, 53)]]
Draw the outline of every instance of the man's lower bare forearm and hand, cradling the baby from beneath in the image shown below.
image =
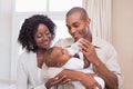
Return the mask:
[(95, 73), (83, 73), (80, 71), (72, 71), (72, 70), (63, 70), (61, 71), (58, 77), (62, 78), (62, 76), (66, 76), (61, 83), (66, 83), (70, 81), (80, 81), (86, 89), (102, 89), (101, 86), (94, 79)]

